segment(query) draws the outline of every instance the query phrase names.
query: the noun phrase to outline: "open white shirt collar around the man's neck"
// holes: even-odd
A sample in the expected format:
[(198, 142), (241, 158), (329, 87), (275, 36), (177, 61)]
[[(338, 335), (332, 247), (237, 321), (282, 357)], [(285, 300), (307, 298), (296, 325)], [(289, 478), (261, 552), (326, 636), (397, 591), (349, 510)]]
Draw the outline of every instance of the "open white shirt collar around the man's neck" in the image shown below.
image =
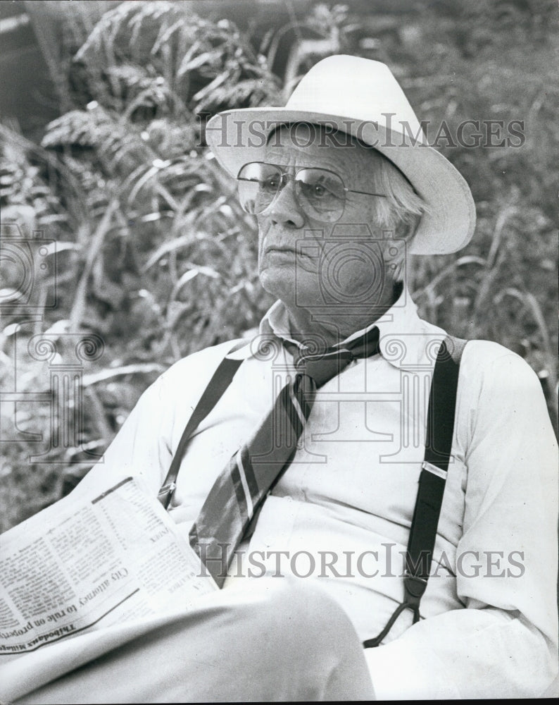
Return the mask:
[[(410, 371), (432, 367), (439, 345), (446, 337), (444, 330), (420, 319), (417, 306), (406, 287), (403, 287), (401, 295), (382, 317), (370, 326), (351, 333), (351, 336), (338, 343), (338, 347), (343, 347), (354, 338), (362, 336), (373, 326), (379, 329), (379, 349), (382, 357), (394, 367)], [(274, 340), (279, 343), (278, 338), (302, 347), (300, 342), (291, 337), (289, 314), (280, 300), (276, 301), (263, 317), (258, 336), (253, 338), (249, 345), (244, 345), (228, 357), (246, 360), (249, 357), (261, 356), (264, 346), (273, 345)]]

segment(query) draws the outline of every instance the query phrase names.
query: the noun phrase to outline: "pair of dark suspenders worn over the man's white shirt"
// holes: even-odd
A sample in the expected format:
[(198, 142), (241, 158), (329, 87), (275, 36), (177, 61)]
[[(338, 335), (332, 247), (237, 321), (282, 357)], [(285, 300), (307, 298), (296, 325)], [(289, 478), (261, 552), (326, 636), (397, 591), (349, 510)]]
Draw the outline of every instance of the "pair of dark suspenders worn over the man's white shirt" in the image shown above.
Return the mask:
[[(420, 601), (429, 579), (446, 471), (451, 458), (458, 373), (460, 358), (466, 342), (448, 336), (442, 343), (436, 357), (429, 393), (429, 406), (427, 407), (425, 456), (422, 462), (419, 488), (408, 538), (408, 550), (406, 551), (406, 571), (403, 580), (404, 601), (398, 605), (382, 632), (374, 639), (367, 639), (363, 642), (365, 649), (378, 646), (404, 610), (413, 611), (414, 624), (420, 619)], [(227, 354), (237, 350), (243, 344), (237, 343)], [(181, 436), (165, 482), (158, 493), (158, 500), (165, 508), (168, 507), (175, 491), (180, 463), (190, 436), (230, 386), (241, 362), (242, 360), (230, 360), (225, 357), (220, 362), (218, 369), (215, 370), (198, 405), (196, 405)]]

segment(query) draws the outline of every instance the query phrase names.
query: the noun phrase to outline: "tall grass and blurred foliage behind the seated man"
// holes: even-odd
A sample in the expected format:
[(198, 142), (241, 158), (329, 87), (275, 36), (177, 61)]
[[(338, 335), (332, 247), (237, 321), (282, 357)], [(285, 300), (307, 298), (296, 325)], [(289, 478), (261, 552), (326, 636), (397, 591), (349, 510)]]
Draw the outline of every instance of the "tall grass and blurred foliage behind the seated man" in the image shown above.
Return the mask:
[[(32, 314), (2, 262), (0, 531), (68, 491), (91, 465), (88, 453), (102, 453), (172, 362), (258, 325), (271, 300), (256, 276), (255, 223), (203, 143), (203, 118), (282, 104), (329, 54), (385, 61), (417, 115), (446, 121), (451, 133), (467, 119), (524, 121), (519, 148), (439, 142), (471, 185), (477, 231), (458, 257), (416, 258), (412, 290), (435, 324), (525, 357), (556, 424), (551, 4), (293, 0), (253, 1), (247, 11), (234, 0), (159, 0), (103, 3), (95, 22), (83, 3), (58, 5), (68, 11), (64, 41), (49, 62), (61, 116), (32, 140), (10, 116), (0, 124), (3, 228), (17, 223), (28, 238), (42, 231), (56, 241), (49, 266), (34, 271)], [(52, 49), (47, 24), (34, 27)], [(45, 307), (54, 293), (56, 305)], [(62, 359), (68, 333), (104, 343), (69, 401), (82, 412), (75, 442), (60, 443), (49, 463), (30, 459), (49, 446), (56, 405), (48, 365), (27, 349), (39, 333), (58, 340)], [(25, 397), (34, 393), (42, 397)]]

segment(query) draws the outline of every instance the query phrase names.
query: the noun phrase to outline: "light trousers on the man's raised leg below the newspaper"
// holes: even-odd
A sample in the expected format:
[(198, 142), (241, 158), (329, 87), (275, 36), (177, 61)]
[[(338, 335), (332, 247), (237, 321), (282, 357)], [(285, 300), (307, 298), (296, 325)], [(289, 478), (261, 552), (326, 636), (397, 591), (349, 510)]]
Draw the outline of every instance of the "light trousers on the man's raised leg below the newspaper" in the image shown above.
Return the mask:
[[(186, 614), (63, 639), (1, 667), (4, 703), (374, 699), (346, 613), (305, 581), (261, 578)], [(54, 680), (53, 680), (54, 679)]]

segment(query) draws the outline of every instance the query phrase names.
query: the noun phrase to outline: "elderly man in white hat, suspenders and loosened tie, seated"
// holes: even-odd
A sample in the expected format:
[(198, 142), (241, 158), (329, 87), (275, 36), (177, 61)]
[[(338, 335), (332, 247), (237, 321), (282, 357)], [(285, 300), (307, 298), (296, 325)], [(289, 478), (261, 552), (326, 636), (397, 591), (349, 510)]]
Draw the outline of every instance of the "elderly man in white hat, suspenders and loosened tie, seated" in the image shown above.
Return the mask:
[(44, 647), (57, 678), (30, 666), (20, 701), (541, 695), (557, 648), (544, 398), (520, 357), (448, 337), (406, 288), (409, 253), (470, 240), (467, 184), (389, 69), (351, 56), (207, 135), (278, 300), (253, 340), (165, 372), (76, 492), (142, 475), (222, 589), (113, 627), (106, 653)]

